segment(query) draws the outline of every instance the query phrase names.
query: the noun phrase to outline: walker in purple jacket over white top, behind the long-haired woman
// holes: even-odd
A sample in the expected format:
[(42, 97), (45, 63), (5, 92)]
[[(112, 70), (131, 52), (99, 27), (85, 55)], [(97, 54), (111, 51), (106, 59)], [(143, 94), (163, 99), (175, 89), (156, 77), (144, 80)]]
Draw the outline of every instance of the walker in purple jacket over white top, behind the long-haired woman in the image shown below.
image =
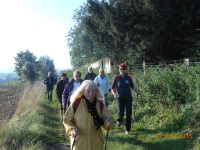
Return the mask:
[(74, 71), (73, 78), (69, 81), (62, 93), (62, 107), (64, 113), (67, 107), (70, 105), (71, 95), (78, 89), (82, 82), (83, 80), (81, 79), (81, 72)]

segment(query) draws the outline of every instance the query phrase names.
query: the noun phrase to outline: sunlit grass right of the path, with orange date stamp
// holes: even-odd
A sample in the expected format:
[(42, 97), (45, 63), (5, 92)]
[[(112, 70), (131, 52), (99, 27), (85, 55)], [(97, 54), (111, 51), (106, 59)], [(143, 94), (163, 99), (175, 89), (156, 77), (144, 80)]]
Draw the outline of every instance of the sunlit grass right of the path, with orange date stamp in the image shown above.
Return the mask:
[[(135, 97), (136, 99), (136, 97)], [(157, 106), (158, 105), (158, 106)], [(199, 149), (199, 128), (184, 128), (182, 116), (176, 108), (167, 108), (159, 104), (154, 107), (134, 105), (135, 121), (132, 130), (125, 135), (124, 126), (109, 132), (109, 150), (188, 150)], [(109, 106), (116, 120), (117, 105)], [(192, 135), (193, 137), (186, 137)], [(184, 137), (185, 136), (185, 137)]]

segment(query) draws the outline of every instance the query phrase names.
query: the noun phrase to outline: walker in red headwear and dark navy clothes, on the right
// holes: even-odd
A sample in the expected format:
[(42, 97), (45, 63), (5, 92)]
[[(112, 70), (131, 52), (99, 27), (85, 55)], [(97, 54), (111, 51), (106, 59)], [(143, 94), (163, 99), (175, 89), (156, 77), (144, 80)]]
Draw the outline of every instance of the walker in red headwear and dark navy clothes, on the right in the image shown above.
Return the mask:
[(124, 111), (126, 109), (126, 130), (125, 133), (128, 134), (131, 130), (131, 116), (132, 116), (132, 94), (131, 89), (141, 94), (140, 90), (136, 88), (133, 84), (132, 78), (126, 73), (126, 65), (119, 65), (119, 74), (114, 77), (112, 82), (112, 93), (118, 101), (118, 126), (121, 125)]

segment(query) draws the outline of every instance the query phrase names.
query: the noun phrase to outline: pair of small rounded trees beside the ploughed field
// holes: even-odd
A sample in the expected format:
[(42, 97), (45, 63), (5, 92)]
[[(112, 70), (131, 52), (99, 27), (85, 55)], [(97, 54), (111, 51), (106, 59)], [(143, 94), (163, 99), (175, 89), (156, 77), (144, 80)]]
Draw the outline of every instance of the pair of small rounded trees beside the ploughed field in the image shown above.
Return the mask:
[(41, 56), (37, 61), (36, 56), (26, 50), (20, 51), (15, 57), (15, 72), (22, 81), (33, 83), (45, 78), (49, 71), (56, 75), (54, 62), (48, 56)]

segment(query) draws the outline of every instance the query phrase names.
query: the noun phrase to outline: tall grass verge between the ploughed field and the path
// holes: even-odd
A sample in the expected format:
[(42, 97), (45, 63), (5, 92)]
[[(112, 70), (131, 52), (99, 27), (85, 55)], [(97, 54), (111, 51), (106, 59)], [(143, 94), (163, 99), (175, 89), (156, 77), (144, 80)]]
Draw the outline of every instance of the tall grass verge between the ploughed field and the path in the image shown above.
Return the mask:
[(59, 139), (54, 130), (58, 118), (43, 93), (40, 84), (24, 90), (14, 117), (0, 129), (0, 149), (48, 149)]

